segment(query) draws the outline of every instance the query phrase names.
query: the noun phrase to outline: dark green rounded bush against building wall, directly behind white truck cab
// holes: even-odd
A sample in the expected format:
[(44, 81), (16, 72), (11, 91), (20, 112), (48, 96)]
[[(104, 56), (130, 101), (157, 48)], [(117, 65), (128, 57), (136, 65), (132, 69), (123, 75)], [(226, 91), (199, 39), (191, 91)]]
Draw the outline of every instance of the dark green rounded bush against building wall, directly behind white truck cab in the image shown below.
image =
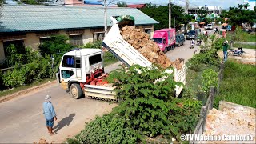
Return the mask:
[(42, 42), (38, 48), (42, 55), (65, 53), (73, 48), (66, 42), (67, 40), (65, 35), (52, 36), (48, 41)]

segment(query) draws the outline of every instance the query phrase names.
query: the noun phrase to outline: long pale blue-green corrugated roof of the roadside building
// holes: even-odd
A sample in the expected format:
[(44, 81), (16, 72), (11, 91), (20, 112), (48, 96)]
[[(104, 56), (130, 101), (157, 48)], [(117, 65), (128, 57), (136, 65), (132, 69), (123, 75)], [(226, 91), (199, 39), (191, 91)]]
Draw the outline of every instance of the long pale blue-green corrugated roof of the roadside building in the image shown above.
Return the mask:
[[(104, 8), (86, 6), (4, 6), (1, 10), (0, 33), (38, 30), (63, 30), (104, 26)], [(131, 15), (135, 25), (157, 24), (140, 10), (127, 7), (107, 9), (110, 16)]]

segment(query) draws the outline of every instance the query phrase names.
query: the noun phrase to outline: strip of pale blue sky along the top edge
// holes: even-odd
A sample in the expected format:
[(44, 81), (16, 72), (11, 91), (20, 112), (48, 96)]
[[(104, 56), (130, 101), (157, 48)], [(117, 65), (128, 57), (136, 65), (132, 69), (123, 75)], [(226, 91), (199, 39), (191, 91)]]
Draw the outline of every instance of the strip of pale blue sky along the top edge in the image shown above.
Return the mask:
[[(126, 2), (127, 4), (149, 3), (166, 6), (169, 0), (119, 0), (119, 2)], [(179, 6), (186, 6), (186, 0), (171, 0), (174, 4)], [(242, 4), (243, 0), (190, 0), (190, 6), (221, 6), (226, 9), (232, 6)]]

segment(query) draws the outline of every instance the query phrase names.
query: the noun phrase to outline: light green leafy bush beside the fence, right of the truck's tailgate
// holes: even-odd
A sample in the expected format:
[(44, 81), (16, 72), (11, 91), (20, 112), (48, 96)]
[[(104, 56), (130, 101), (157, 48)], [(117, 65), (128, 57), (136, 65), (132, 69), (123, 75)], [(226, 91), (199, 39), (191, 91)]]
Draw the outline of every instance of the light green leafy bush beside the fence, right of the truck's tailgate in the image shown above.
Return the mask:
[(206, 69), (202, 73), (202, 91), (208, 94), (210, 86), (218, 87), (218, 73), (212, 69)]

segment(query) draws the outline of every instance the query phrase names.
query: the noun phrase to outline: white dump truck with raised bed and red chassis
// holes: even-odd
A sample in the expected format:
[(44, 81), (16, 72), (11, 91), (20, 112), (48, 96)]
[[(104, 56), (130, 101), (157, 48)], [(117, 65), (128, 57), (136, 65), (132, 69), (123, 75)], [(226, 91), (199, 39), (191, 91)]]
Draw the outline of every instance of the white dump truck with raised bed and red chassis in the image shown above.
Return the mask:
[[(120, 22), (120, 18), (122, 22)], [(126, 20), (123, 21), (123, 19)], [(106, 34), (102, 46), (126, 66), (137, 64), (150, 68), (152, 63), (126, 42), (120, 34), (119, 26), (134, 25), (134, 18), (130, 16), (126, 16), (126, 18), (111, 17), (111, 20), (113, 26)], [(88, 98), (116, 100), (114, 86), (104, 81), (107, 74), (104, 72), (102, 54), (102, 50), (99, 49), (80, 49), (67, 52), (63, 55), (59, 72), (56, 74), (58, 83), (76, 99), (81, 98), (84, 94)], [(174, 73), (174, 81), (185, 84), (186, 67), (184, 62), (181, 65), (182, 69), (174, 68), (169, 73)], [(176, 86), (176, 96), (181, 93), (182, 88), (183, 86)]]

